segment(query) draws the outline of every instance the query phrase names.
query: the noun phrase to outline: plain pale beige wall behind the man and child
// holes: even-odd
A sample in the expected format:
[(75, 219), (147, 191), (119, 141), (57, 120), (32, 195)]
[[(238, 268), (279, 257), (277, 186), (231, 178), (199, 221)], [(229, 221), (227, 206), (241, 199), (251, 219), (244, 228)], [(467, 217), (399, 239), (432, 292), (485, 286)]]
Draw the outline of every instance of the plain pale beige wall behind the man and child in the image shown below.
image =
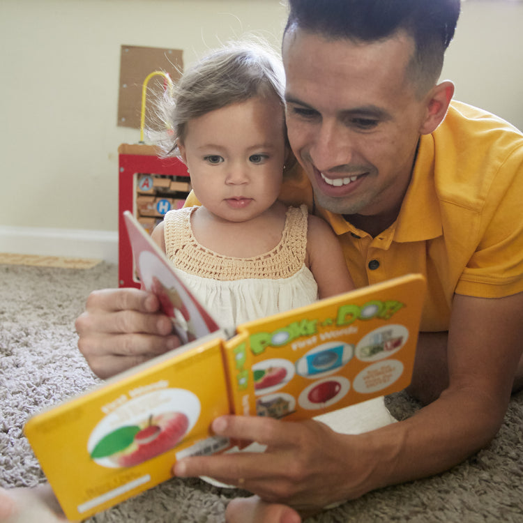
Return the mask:
[[(121, 44), (180, 48), (185, 65), (250, 31), (278, 47), (282, 3), (0, 0), (0, 242), (2, 227), (116, 231), (116, 149), (139, 139), (116, 126)], [(522, 28), (521, 2), (464, 3), (444, 70), (457, 98), (519, 128)]]

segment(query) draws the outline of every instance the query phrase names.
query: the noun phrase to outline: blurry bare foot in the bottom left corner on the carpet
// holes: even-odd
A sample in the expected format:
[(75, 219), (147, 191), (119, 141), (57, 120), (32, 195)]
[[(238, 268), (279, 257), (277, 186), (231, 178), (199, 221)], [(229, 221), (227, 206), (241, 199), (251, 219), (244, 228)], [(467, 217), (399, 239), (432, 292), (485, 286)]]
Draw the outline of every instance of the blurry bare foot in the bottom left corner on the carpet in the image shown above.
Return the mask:
[(49, 485), (0, 488), (0, 523), (63, 523), (66, 517)]

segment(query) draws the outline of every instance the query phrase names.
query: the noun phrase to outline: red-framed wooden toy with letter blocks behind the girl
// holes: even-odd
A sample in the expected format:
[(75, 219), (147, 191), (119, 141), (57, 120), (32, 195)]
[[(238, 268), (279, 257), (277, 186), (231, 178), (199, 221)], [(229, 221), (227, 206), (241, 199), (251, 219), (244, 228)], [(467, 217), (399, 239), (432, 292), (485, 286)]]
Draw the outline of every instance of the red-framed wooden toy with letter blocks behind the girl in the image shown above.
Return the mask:
[(181, 207), (190, 191), (187, 167), (178, 158), (159, 158), (155, 146), (121, 144), (119, 153), (119, 287), (139, 287), (123, 222), (131, 211), (151, 230), (170, 209)]

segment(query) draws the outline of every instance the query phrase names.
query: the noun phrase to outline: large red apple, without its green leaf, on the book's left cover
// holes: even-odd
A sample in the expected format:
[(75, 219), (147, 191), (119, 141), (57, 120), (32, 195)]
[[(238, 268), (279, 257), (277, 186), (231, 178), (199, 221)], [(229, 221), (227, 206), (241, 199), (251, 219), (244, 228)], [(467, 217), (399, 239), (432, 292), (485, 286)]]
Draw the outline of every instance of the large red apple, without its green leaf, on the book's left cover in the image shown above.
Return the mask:
[(164, 412), (151, 416), (132, 443), (110, 459), (120, 467), (133, 467), (176, 446), (185, 435), (189, 419), (181, 412)]

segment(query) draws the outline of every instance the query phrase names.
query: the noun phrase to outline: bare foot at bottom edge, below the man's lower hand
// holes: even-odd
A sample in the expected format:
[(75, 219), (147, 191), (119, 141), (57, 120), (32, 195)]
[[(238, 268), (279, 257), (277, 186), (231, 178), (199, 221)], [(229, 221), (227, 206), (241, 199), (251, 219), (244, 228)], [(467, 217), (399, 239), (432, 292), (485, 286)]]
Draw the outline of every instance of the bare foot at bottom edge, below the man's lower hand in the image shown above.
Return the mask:
[(236, 498), (225, 511), (227, 523), (301, 523), (300, 515), (287, 505), (266, 503), (259, 497)]

